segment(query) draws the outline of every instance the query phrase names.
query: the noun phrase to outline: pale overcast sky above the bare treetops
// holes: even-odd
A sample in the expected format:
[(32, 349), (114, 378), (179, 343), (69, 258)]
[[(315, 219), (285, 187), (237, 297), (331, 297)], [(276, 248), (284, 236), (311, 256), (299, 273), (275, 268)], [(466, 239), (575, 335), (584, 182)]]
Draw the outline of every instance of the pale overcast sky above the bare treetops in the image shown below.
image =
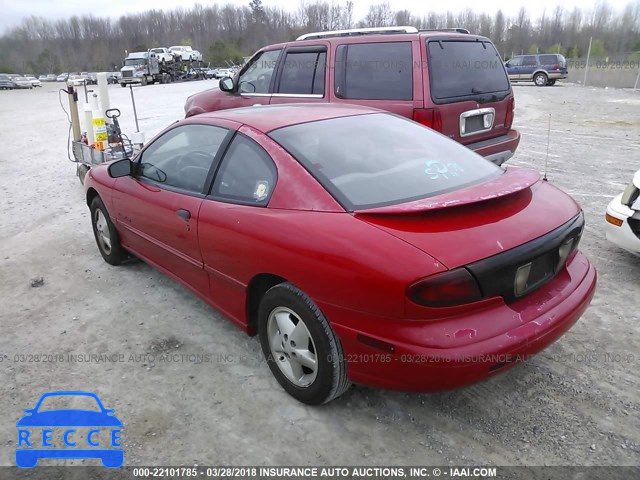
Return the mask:
[[(331, 3), (331, 0), (328, 0)], [(340, 4), (342, 0), (335, 0)], [(394, 10), (406, 8), (414, 15), (422, 16), (429, 11), (453, 12), (462, 11), (469, 6), (468, 0), (447, 0), (429, 2), (425, 0), (388, 0)], [(583, 9), (591, 9), (596, 0), (486, 0), (476, 7), (478, 12), (495, 13), (498, 9), (506, 15), (514, 15), (520, 7), (524, 6), (532, 17), (537, 17), (543, 10), (553, 11), (558, 3), (565, 9), (579, 6)], [(608, 0), (608, 4), (616, 10), (622, 10), (630, 0)], [(234, 5), (248, 5), (249, 0), (0, 0), (0, 34), (8, 27), (20, 23), (20, 20), (30, 15), (39, 15), (51, 19), (65, 18), (72, 15), (109, 16), (117, 18), (127, 13), (142, 12), (153, 8), (171, 10), (177, 6), (190, 7), (195, 3), (211, 5), (214, 3)], [(301, 0), (263, 0), (264, 5), (277, 5), (290, 11), (297, 10)], [(378, 0), (354, 0), (355, 20), (360, 20), (367, 12), (369, 5), (382, 3)]]

